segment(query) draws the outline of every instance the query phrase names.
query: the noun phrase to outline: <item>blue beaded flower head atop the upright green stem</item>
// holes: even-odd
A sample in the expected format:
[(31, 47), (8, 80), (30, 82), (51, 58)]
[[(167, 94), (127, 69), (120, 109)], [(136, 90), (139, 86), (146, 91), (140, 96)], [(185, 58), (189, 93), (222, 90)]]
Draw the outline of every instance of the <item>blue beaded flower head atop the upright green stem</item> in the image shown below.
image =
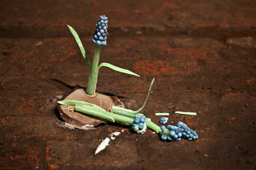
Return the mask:
[(92, 42), (97, 45), (106, 46), (107, 45), (107, 35), (108, 35), (108, 17), (105, 15), (100, 15), (98, 23), (96, 25), (96, 31), (93, 35)]

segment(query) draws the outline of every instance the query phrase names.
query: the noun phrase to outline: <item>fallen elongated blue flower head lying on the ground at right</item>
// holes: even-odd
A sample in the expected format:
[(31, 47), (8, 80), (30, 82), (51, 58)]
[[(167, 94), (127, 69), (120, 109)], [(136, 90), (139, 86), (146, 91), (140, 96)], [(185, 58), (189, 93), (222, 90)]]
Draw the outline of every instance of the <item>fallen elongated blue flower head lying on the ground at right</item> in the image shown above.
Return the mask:
[(196, 131), (190, 129), (185, 123), (179, 121), (177, 126), (164, 125), (161, 126), (160, 136), (163, 141), (180, 141), (181, 138), (185, 138), (188, 140), (196, 140), (198, 135)]

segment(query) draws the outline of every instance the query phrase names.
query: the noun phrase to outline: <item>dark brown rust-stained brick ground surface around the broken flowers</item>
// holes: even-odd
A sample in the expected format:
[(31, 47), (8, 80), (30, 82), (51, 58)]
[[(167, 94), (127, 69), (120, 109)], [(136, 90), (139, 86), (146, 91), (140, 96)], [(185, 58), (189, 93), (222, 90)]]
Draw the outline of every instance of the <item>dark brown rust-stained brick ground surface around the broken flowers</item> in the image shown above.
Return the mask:
[[(104, 7), (101, 7), (104, 4)], [(3, 1), (0, 4), (0, 169), (255, 169), (256, 4), (227, 1)], [(157, 125), (183, 121), (196, 141), (162, 142), (108, 123), (70, 129), (57, 101), (86, 87), (99, 15), (108, 16), (97, 88)], [(175, 111), (196, 112), (186, 116)], [(100, 142), (121, 132), (95, 155)]]

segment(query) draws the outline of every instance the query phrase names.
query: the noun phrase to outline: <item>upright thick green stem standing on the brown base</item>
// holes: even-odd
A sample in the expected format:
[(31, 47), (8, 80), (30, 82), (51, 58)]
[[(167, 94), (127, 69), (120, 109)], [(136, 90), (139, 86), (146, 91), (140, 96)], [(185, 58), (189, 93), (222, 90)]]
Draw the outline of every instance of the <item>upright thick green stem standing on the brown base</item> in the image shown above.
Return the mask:
[(93, 63), (92, 63), (91, 72), (89, 75), (89, 81), (88, 81), (87, 90), (86, 90), (86, 94), (89, 96), (93, 96), (96, 91), (100, 48), (101, 48), (101, 45), (96, 45), (95, 53), (93, 57)]

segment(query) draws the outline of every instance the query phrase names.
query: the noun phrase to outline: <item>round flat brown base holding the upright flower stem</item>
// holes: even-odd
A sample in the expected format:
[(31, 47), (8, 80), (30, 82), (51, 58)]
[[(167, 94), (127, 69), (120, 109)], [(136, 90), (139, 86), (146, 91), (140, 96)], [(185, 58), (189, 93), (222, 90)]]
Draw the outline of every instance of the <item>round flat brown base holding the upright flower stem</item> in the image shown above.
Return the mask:
[[(113, 105), (118, 107), (124, 107), (124, 104), (117, 98), (117, 96), (112, 93), (96, 91), (96, 96), (90, 97), (86, 95), (85, 91), (86, 89), (83, 88), (75, 88), (68, 95), (64, 96), (61, 100), (85, 101), (88, 103), (96, 104), (105, 110), (108, 110), (108, 108), (111, 108)], [(68, 108), (70, 107), (71, 105), (57, 105), (57, 108), (60, 112), (60, 117), (65, 122), (65, 125), (69, 127), (84, 130), (97, 126), (100, 123), (106, 124), (108, 122), (108, 120), (99, 117), (93, 117), (91, 115), (85, 116), (78, 112), (69, 112)]]

